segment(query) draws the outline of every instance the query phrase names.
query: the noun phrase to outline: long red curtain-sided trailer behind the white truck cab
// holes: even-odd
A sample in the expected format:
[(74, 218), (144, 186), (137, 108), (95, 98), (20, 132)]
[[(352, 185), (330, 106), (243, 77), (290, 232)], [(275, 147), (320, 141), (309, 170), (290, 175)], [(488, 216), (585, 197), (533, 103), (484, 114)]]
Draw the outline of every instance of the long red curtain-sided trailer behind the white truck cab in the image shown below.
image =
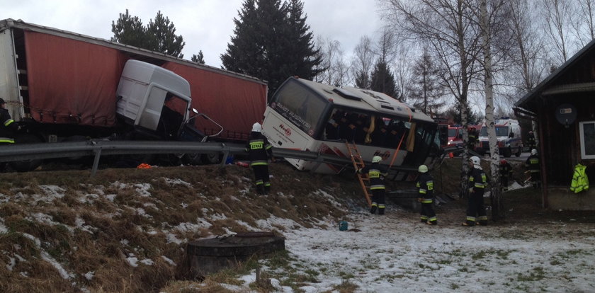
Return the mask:
[[(251, 125), (263, 118), (265, 81), (159, 52), (6, 19), (0, 21), (0, 98), (6, 100), (9, 113), (21, 127), (16, 142), (60, 142), (81, 137), (179, 139), (171, 132), (143, 127), (140, 117), (151, 115), (139, 112), (139, 119), (134, 121), (118, 113), (118, 103), (123, 103), (118, 85), (129, 60), (152, 64), (137, 67), (147, 71), (133, 71), (139, 75), (135, 80), (161, 83), (145, 84), (145, 92), (135, 91), (145, 95), (138, 97), (145, 114), (159, 112), (157, 103), (164, 103), (168, 93), (171, 96), (168, 91), (150, 92), (152, 86), (183, 88), (185, 80), (190, 88), (186, 99), (190, 107), (179, 114), (202, 137), (216, 134), (222, 127), (217, 139), (244, 140)], [(149, 74), (162, 74), (162, 78), (152, 79)], [(186, 112), (193, 108), (210, 120), (191, 120)], [(159, 113), (151, 117), (160, 119)], [(148, 125), (157, 124), (159, 121)]]

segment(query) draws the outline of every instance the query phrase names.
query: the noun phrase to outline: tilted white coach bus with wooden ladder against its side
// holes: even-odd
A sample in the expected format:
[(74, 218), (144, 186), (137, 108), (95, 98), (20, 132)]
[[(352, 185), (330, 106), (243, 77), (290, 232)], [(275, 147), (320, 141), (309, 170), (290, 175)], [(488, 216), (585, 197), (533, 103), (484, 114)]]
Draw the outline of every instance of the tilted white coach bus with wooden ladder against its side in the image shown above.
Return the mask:
[[(438, 156), (438, 125), (431, 117), (376, 91), (336, 87), (290, 77), (264, 113), (263, 134), (278, 148), (349, 157), (356, 144), (363, 160), (381, 156), (392, 180), (409, 180)], [(287, 159), (298, 170), (339, 173), (346, 166)], [(396, 170), (396, 172), (395, 172)]]

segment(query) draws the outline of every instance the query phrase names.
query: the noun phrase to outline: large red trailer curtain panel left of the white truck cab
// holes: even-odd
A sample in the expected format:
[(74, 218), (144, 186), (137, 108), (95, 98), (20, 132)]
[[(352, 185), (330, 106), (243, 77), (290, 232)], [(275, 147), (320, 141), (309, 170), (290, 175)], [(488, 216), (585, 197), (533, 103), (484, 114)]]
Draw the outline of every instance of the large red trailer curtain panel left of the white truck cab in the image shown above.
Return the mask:
[(33, 120), (115, 125), (115, 91), (128, 59), (110, 47), (25, 31)]

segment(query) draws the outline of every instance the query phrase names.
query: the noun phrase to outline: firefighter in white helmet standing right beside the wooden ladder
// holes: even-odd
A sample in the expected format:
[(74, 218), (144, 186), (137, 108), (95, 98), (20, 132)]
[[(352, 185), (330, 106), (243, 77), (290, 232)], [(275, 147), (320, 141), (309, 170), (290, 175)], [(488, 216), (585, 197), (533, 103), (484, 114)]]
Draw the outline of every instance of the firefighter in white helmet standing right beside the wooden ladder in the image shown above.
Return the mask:
[(370, 214), (375, 214), (378, 209), (378, 214), (385, 213), (385, 185), (384, 178), (387, 176), (387, 169), (385, 166), (380, 165), (382, 158), (380, 156), (374, 156), (372, 158), (372, 164), (358, 169), (360, 174), (368, 174), (370, 178), (370, 190), (372, 191), (372, 207), (370, 207)]

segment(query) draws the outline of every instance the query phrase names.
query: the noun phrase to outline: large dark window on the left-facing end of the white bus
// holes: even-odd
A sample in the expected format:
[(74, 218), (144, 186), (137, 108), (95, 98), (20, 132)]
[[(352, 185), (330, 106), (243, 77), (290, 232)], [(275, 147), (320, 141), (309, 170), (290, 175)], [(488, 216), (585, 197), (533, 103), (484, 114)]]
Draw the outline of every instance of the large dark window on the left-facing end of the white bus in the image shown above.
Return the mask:
[(283, 115), (293, 125), (300, 127), (300, 130), (315, 137), (317, 126), (328, 103), (326, 99), (309, 88), (292, 80), (277, 91), (271, 108)]

